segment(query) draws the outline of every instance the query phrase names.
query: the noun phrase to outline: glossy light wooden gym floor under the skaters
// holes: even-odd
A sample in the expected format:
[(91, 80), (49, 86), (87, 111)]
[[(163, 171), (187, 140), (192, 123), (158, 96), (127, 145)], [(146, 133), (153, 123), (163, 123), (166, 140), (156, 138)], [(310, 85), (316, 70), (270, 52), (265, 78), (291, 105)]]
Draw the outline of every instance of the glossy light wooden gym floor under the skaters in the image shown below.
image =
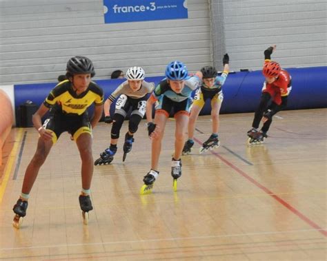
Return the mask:
[[(0, 260), (326, 260), (326, 112), (280, 112), (266, 143), (256, 147), (246, 145), (253, 114), (221, 115), (221, 147), (200, 155), (199, 143), (211, 132), (210, 117), (201, 116), (176, 193), (175, 122), (168, 121), (160, 175), (146, 196), (139, 189), (150, 169), (150, 140), (142, 122), (125, 163), (120, 142), (112, 164), (95, 167), (89, 225), (78, 202), (79, 154), (63, 134), (41, 168), (19, 230), (12, 227), (12, 205), (37, 132), (15, 129), (0, 185)], [(100, 123), (95, 158), (109, 137), (110, 127)]]

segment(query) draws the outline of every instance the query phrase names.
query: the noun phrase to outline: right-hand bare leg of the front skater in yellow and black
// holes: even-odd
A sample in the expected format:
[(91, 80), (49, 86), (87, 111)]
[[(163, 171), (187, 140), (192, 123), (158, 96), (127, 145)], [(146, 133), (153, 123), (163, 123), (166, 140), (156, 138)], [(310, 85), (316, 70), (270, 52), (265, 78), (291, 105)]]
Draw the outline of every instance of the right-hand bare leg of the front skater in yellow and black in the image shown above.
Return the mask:
[(79, 135), (76, 143), (81, 156), (82, 189), (90, 189), (93, 175), (92, 136), (83, 133)]

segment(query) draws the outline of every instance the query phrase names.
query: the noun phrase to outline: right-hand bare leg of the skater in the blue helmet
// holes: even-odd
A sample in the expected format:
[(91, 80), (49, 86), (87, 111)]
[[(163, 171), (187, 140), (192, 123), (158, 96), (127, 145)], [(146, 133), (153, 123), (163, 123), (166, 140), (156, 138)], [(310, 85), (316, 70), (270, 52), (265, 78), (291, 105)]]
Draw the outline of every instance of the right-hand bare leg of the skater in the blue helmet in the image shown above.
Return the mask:
[(185, 133), (188, 128), (188, 114), (185, 111), (178, 112), (175, 114), (176, 120), (176, 129), (175, 129), (175, 160), (179, 160), (181, 158), (181, 152), (184, 147)]

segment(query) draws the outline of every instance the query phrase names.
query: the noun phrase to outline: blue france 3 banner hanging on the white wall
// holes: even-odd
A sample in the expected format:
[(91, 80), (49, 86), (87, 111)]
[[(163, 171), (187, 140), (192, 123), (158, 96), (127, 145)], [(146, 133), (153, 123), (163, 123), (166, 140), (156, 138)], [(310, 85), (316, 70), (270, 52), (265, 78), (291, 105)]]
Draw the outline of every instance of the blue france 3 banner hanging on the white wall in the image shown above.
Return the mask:
[(187, 19), (187, 0), (103, 0), (105, 23)]

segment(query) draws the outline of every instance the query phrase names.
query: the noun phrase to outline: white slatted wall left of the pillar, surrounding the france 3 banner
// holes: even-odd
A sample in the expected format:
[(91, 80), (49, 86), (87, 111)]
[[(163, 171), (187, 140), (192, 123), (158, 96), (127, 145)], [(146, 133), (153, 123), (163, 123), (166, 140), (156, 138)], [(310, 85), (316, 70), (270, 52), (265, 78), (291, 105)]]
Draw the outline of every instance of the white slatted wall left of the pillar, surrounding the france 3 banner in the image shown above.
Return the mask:
[(102, 0), (0, 1), (0, 84), (57, 81), (72, 56), (95, 63), (95, 79), (142, 66), (164, 74), (179, 59), (190, 71), (212, 63), (207, 0), (188, 0), (189, 19), (105, 24)]

